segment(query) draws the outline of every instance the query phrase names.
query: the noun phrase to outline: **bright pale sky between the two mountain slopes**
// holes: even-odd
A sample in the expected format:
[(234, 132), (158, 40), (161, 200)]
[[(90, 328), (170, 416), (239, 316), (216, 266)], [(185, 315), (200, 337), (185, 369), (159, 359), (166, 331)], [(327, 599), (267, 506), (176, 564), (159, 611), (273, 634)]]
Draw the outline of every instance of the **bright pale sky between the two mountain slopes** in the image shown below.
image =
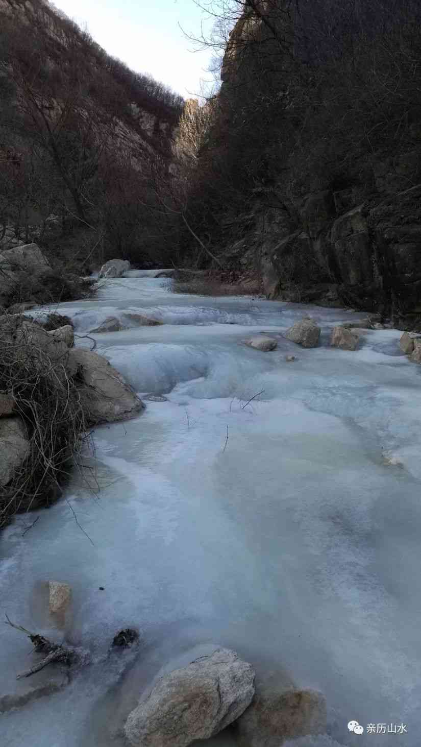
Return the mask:
[(188, 99), (201, 93), (201, 79), (211, 81), (205, 72), (211, 52), (193, 52), (195, 45), (184, 31), (200, 36), (201, 26), (208, 34), (210, 16), (193, 0), (53, 0), (113, 57), (136, 72), (150, 73), (157, 81)]

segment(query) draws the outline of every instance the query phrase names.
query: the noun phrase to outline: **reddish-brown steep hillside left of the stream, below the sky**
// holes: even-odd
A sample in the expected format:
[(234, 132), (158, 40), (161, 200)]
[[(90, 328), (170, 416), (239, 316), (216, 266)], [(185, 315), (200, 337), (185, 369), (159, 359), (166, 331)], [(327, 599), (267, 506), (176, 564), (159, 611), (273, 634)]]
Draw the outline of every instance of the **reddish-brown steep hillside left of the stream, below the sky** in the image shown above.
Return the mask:
[(1, 247), (37, 241), (78, 269), (163, 261), (181, 97), (44, 0), (0, 0), (0, 95)]

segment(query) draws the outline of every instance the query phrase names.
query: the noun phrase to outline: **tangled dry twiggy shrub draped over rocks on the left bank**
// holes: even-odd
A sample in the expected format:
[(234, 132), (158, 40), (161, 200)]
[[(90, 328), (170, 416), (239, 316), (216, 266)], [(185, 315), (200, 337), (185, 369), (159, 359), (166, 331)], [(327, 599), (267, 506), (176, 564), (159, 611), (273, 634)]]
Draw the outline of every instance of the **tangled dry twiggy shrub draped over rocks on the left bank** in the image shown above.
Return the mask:
[(60, 360), (34, 344), (13, 339), (16, 317), (0, 326), (0, 390), (28, 430), (29, 453), (13, 480), (0, 489), (0, 527), (17, 512), (56, 500), (86, 438), (84, 411), (75, 381)]

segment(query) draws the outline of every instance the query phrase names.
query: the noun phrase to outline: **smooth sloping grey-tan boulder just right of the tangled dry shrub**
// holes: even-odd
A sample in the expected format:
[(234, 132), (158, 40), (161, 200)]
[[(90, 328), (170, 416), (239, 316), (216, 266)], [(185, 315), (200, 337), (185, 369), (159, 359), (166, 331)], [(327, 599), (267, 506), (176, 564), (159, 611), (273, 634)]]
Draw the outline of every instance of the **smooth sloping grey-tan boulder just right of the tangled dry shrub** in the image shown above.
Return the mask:
[(90, 350), (69, 350), (69, 365), (76, 369), (81, 404), (90, 424), (126, 420), (145, 405), (106, 358)]

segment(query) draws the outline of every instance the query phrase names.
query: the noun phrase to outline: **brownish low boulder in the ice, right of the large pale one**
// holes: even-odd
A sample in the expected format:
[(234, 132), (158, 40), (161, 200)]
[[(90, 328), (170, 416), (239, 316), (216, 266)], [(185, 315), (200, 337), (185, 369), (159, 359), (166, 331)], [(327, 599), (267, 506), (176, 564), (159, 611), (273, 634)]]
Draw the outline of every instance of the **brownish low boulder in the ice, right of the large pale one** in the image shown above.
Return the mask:
[(240, 747), (280, 747), (285, 740), (325, 734), (326, 701), (314, 690), (257, 692), (236, 727)]

